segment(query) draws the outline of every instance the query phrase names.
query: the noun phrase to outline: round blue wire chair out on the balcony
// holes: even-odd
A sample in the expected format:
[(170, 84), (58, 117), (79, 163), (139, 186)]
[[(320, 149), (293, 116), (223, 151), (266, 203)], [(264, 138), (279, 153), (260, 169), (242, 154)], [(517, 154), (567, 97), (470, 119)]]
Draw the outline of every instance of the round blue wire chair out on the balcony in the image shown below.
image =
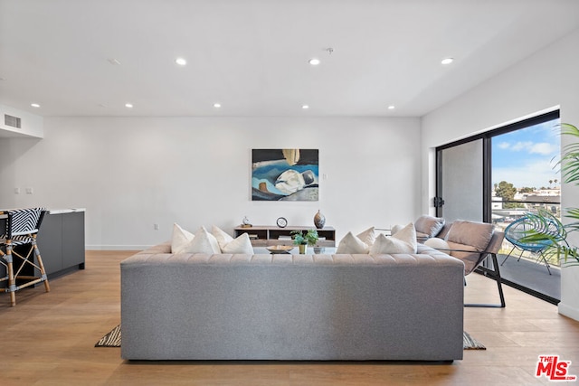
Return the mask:
[(513, 244), (513, 248), (510, 249), (510, 252), (508, 252), (507, 257), (503, 260), (502, 263), (500, 263), (500, 265), (502, 266), (503, 264), (505, 264), (505, 261), (507, 261), (511, 253), (513, 253), (513, 250), (518, 249), (520, 250), (520, 253), (518, 255), (517, 261), (521, 259), (521, 256), (523, 256), (523, 252), (525, 251), (530, 252), (534, 255), (538, 255), (538, 257), (536, 258), (537, 262), (539, 260), (543, 260), (546, 265), (546, 270), (549, 272), (549, 275), (551, 275), (551, 268), (549, 268), (550, 267), (549, 262), (546, 259), (545, 254), (543, 252), (545, 251), (545, 249), (547, 249), (553, 244), (553, 241), (551, 240), (533, 241), (533, 242), (523, 241), (522, 239), (528, 235), (528, 231), (537, 231), (553, 235), (557, 235), (559, 233), (557, 224), (555, 223), (555, 221), (552, 220), (536, 221), (533, 220), (533, 218), (530, 216), (523, 216), (517, 221), (511, 222), (510, 224), (508, 224), (507, 228), (505, 228), (505, 239), (507, 239), (508, 242)]

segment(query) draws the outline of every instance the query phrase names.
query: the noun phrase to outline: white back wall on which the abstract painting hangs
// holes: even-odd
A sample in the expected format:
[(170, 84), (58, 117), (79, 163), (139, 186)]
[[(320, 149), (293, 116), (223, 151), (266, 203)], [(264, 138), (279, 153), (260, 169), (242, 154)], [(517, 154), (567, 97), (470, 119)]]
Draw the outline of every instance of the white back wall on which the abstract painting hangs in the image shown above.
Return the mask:
[[(418, 217), (419, 143), (418, 118), (45, 118), (43, 140), (0, 138), (0, 206), (86, 208), (88, 249), (168, 240), (175, 221), (313, 226), (318, 209), (341, 238)], [(318, 202), (251, 201), (252, 148), (282, 147), (319, 149)]]

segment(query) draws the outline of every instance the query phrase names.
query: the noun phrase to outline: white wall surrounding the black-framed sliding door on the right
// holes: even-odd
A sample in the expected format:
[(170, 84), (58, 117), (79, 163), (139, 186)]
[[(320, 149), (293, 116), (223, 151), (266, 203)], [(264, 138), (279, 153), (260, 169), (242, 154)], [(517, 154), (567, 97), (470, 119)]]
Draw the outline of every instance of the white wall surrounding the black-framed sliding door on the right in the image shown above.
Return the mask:
[[(579, 30), (422, 118), (422, 204), (433, 212), (433, 149), (560, 106), (579, 125)], [(562, 206), (579, 207), (579, 188), (564, 184)], [(574, 245), (579, 245), (575, 237)], [(579, 268), (564, 268), (559, 312), (579, 320)]]

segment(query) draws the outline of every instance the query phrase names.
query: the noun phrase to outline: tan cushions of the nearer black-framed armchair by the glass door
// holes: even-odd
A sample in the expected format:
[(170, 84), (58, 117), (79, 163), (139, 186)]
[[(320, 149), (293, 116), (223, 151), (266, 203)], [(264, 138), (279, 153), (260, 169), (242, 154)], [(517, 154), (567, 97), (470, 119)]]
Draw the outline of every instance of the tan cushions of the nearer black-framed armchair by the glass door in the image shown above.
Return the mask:
[[(450, 249), (459, 249), (451, 250), (450, 255), (462, 260), (465, 275), (470, 274), (476, 268), (480, 258), (479, 252), (487, 248), (492, 234), (492, 224), (462, 220), (452, 222), (451, 229), (446, 235), (446, 241)], [(470, 253), (469, 250), (476, 253)]]

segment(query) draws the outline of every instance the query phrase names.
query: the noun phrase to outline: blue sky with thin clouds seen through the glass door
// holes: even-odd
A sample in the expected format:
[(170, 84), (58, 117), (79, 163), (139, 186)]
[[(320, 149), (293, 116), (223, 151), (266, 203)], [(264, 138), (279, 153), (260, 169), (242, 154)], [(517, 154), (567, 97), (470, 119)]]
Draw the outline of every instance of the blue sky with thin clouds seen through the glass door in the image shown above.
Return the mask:
[(517, 188), (538, 189), (556, 179), (560, 185), (561, 174), (554, 167), (561, 154), (558, 123), (557, 119), (493, 137), (492, 184), (507, 181)]

